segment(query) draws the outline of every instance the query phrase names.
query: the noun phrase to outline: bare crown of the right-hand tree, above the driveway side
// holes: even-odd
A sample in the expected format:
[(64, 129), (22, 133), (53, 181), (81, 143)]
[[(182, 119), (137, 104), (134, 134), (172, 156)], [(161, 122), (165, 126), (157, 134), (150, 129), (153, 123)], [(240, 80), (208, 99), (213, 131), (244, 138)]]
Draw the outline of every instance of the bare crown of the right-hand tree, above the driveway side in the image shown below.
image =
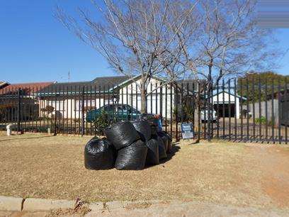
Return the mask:
[(201, 24), (194, 31), (198, 44), (190, 43), (188, 34), (179, 31), (183, 65), (195, 79), (205, 79), (209, 90), (224, 77), (271, 68), (280, 54), (272, 46), (272, 31), (258, 28), (255, 6), (254, 0), (203, 0), (198, 10)]

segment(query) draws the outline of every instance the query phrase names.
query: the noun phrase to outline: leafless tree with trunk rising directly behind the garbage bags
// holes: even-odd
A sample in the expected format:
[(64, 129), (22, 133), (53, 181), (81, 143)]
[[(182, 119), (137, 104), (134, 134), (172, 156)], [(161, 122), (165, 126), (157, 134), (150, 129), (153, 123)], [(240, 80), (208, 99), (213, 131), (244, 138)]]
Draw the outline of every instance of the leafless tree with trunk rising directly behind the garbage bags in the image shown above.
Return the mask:
[(103, 7), (92, 3), (101, 11), (100, 22), (84, 11), (80, 11), (82, 22), (67, 16), (62, 9), (57, 9), (57, 18), (101, 53), (117, 72), (132, 79), (141, 74), (141, 82), (136, 84), (141, 111), (145, 113), (147, 96), (154, 91), (147, 92), (150, 79), (165, 77), (165, 85), (186, 72), (180, 65), (183, 54), (177, 34), (189, 22), (198, 1), (103, 0)]

